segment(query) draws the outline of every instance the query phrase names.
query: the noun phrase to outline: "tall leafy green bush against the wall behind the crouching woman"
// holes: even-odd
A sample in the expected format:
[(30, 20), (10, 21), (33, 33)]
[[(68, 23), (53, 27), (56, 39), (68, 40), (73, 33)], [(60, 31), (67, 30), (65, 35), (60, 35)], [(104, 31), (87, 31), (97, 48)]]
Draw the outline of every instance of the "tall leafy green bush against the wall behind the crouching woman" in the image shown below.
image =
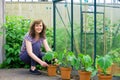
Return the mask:
[[(25, 65), (19, 59), (19, 53), (23, 41), (23, 37), (28, 32), (31, 20), (25, 19), (21, 16), (6, 16), (6, 23), (4, 27), (6, 29), (6, 44), (5, 49), (5, 61), (0, 65), (1, 68), (20, 68), (29, 67)], [(52, 33), (51, 30), (47, 29), (47, 36), (49, 42), (52, 45)], [(43, 50), (43, 49), (42, 49)]]

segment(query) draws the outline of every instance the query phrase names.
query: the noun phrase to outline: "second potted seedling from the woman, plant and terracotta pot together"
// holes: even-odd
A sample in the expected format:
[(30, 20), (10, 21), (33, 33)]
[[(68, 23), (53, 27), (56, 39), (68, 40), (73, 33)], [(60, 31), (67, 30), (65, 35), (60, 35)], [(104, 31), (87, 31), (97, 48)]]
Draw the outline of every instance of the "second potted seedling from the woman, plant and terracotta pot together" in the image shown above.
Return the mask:
[(62, 79), (70, 79), (72, 66), (74, 66), (75, 60), (76, 57), (72, 51), (64, 50), (64, 52), (58, 54)]

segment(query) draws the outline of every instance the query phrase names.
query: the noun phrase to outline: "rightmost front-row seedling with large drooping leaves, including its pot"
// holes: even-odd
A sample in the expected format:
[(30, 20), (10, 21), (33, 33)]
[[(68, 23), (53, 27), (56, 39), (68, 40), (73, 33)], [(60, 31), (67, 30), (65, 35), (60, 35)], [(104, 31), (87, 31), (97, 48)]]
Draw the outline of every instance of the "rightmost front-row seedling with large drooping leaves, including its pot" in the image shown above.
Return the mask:
[(112, 75), (107, 72), (107, 69), (112, 66), (112, 62), (109, 54), (98, 57), (97, 65), (101, 68), (101, 73), (98, 74), (99, 80), (112, 80)]

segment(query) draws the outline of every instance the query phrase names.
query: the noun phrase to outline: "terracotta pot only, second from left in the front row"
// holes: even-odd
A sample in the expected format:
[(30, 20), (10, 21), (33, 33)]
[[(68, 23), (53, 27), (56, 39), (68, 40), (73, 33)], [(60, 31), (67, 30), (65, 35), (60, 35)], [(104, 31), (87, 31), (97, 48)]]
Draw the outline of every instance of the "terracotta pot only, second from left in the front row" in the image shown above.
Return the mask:
[(61, 78), (62, 78), (63, 80), (70, 80), (71, 70), (72, 70), (71, 68), (61, 67), (61, 68), (60, 68)]

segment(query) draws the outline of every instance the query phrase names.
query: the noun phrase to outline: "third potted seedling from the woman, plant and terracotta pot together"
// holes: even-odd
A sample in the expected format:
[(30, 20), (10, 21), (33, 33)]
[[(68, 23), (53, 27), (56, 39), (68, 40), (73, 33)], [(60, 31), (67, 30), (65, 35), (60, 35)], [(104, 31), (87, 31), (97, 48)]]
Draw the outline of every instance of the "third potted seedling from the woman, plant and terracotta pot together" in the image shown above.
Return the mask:
[(90, 80), (91, 75), (97, 72), (93, 67), (92, 58), (87, 54), (79, 53), (77, 61), (75, 68), (78, 70), (80, 80)]

